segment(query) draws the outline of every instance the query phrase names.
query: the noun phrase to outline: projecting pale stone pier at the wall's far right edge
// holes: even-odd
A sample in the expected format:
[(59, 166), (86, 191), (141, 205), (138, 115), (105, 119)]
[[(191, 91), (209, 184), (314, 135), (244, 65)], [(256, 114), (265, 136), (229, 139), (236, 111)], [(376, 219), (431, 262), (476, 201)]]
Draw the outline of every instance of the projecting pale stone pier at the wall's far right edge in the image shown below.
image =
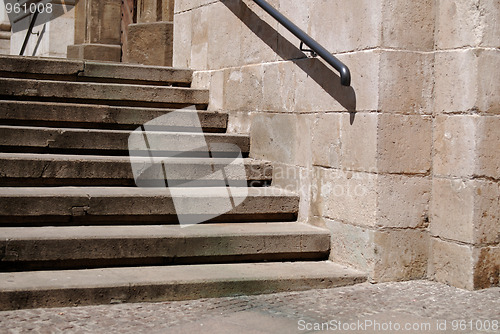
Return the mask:
[(499, 285), (500, 2), (437, 1), (430, 277)]

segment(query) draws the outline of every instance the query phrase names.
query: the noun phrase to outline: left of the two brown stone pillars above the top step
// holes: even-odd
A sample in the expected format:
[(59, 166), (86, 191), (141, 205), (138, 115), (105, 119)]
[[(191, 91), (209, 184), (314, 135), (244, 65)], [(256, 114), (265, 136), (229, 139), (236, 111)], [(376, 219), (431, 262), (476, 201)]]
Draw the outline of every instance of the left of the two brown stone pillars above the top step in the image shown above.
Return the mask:
[(121, 1), (80, 0), (75, 13), (75, 45), (68, 58), (120, 61)]

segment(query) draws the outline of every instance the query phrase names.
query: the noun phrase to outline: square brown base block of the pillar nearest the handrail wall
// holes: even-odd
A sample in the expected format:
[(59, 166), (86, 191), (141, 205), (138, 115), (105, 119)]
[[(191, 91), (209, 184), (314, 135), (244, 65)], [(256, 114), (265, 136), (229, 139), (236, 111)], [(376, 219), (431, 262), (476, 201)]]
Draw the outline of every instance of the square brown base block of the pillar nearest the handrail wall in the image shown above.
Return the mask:
[(173, 22), (136, 23), (128, 26), (128, 61), (172, 66)]

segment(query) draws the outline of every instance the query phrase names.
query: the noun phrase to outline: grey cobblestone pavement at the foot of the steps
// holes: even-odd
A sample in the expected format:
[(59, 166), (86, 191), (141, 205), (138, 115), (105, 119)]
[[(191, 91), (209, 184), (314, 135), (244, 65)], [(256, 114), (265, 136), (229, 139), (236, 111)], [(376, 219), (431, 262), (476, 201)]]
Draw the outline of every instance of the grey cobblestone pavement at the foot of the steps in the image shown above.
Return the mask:
[(0, 333), (242, 334), (321, 329), (332, 333), (500, 333), (498, 326), (500, 288), (471, 292), (428, 281), (0, 312)]

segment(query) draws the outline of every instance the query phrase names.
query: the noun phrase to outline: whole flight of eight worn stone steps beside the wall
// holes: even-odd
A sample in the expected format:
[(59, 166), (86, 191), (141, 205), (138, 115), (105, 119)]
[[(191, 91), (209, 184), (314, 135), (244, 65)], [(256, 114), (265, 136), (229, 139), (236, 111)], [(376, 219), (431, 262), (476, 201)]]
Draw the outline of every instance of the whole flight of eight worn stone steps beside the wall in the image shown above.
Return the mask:
[[(248, 136), (225, 132), (227, 115), (206, 110), (208, 91), (191, 88), (191, 77), (183, 69), (0, 57), (0, 310), (270, 293), (366, 279), (326, 261), (329, 233), (296, 222), (297, 195), (271, 186), (272, 166), (248, 157)], [(161, 171), (136, 186), (128, 140), (141, 125), (186, 106), (195, 110), (176, 111), (169, 124), (148, 128), (148, 137), (185, 143), (204, 136), (209, 146), (235, 145), (250, 187), (232, 188), (233, 196), (247, 197), (229, 212), (183, 228), (172, 188), (156, 182)], [(204, 133), (192, 131), (193, 114)], [(178, 187), (207, 177), (200, 174), (207, 166), (227, 166), (224, 177), (237, 179), (232, 158), (207, 159), (180, 145), (188, 153), (165, 166), (178, 171)], [(220, 196), (217, 175), (204, 187), (182, 189), (200, 203), (189, 214)]]

